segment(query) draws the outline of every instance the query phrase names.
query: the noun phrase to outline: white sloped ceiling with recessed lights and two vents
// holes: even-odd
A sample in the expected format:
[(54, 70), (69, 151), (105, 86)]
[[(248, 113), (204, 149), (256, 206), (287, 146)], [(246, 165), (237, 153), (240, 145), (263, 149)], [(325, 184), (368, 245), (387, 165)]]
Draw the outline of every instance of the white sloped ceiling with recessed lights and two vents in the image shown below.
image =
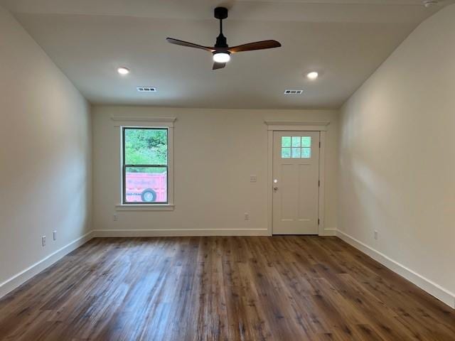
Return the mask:
[[(444, 1), (448, 4), (451, 1)], [(421, 0), (0, 0), (94, 104), (161, 107), (337, 108), (441, 6)], [(213, 8), (230, 8), (230, 45), (275, 39), (211, 70)], [(120, 77), (116, 69), (132, 73)], [(319, 80), (304, 75), (316, 70)], [(157, 87), (144, 94), (137, 86)], [(284, 96), (285, 89), (304, 89)]]

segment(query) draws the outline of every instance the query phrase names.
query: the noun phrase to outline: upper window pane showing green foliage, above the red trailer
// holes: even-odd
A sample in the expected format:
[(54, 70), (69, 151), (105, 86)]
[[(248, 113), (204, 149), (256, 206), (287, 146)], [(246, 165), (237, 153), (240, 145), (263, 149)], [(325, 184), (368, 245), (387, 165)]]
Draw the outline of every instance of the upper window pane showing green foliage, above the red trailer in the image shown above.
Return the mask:
[(167, 129), (125, 129), (125, 164), (167, 165)]

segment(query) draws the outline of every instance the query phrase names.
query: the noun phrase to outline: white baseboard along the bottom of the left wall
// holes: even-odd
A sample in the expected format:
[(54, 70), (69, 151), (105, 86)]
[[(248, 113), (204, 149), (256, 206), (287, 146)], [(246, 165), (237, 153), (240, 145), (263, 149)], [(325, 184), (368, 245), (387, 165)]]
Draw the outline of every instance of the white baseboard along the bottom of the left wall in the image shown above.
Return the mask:
[(18, 286), (21, 286), (21, 284), (25, 283), (33, 276), (36, 276), (41, 271), (46, 269), (48, 266), (51, 266), (56, 261), (61, 259), (63, 256), (69, 254), (71, 251), (77, 249), (78, 247), (85, 244), (92, 238), (93, 232), (90, 231), (87, 234), (84, 234), (82, 237), (77, 238), (75, 241), (70, 242), (70, 244), (65, 245), (65, 247), (62, 247), (57, 251), (53, 252), (44, 259), (41, 259), (41, 261), (38, 261), (31, 266), (28, 266), (27, 269), (12, 276), (3, 283), (0, 283), (0, 298), (5, 296), (7, 293), (10, 293)]

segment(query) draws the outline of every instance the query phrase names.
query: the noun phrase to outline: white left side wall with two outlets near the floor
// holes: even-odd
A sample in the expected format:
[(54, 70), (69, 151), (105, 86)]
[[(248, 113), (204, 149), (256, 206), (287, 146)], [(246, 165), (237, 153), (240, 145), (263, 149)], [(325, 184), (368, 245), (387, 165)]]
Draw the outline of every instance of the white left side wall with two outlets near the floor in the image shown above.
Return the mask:
[(0, 108), (2, 296), (89, 231), (91, 121), (85, 99), (1, 7)]

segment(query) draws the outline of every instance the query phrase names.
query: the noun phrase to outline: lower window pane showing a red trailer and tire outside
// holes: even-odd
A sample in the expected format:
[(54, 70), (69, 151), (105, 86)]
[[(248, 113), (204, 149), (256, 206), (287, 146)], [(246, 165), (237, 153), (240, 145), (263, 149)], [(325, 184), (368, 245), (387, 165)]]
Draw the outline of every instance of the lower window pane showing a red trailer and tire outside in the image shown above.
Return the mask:
[(168, 174), (166, 167), (127, 167), (126, 202), (167, 202)]

